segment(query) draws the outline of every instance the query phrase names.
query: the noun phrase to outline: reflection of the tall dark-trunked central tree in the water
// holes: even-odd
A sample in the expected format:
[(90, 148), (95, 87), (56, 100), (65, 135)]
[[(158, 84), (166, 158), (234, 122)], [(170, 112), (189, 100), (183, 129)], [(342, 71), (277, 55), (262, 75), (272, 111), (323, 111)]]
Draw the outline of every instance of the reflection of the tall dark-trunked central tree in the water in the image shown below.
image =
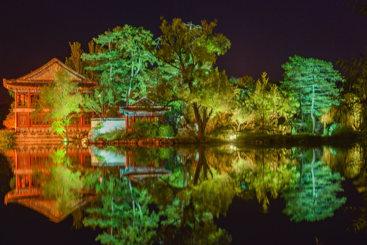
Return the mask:
[(221, 149), (203, 146), (181, 149), (179, 173), (186, 177), (175, 179), (183, 184), (173, 184), (169, 176), (164, 176), (149, 187), (165, 217), (158, 234), (160, 244), (230, 243), (230, 235), (213, 221), (214, 216), (226, 214), (236, 194), (235, 180), (224, 172), (230, 167), (230, 154), (218, 155), (218, 151)]

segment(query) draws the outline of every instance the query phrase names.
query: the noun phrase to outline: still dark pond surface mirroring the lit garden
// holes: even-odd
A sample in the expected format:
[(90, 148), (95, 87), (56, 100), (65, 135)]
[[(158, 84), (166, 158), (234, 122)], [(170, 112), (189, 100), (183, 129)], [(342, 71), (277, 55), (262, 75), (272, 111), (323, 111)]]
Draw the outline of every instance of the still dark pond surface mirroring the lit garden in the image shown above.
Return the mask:
[(18, 145), (1, 244), (365, 244), (365, 151)]

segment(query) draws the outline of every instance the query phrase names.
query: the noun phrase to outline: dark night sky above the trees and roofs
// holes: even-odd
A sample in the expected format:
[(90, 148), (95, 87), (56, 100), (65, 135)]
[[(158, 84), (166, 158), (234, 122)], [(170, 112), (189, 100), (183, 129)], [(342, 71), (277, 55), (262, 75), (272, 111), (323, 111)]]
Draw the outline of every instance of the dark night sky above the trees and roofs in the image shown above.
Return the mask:
[[(87, 43), (108, 28), (143, 26), (155, 37), (160, 16), (200, 24), (218, 20), (215, 32), (232, 42), (217, 60), (227, 75), (281, 80), (281, 64), (299, 54), (335, 64), (367, 46), (367, 17), (346, 0), (307, 1), (3, 1), (0, 5), (0, 78), (18, 78), (52, 58), (65, 61), (68, 42)], [(0, 104), (9, 103), (0, 86)]]

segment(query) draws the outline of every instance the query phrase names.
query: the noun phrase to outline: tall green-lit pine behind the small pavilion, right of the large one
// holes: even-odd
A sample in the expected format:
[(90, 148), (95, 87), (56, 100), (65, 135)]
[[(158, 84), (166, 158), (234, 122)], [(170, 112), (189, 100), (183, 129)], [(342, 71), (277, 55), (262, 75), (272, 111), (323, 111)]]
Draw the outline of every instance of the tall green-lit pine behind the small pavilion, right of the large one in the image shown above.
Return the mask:
[(116, 26), (93, 39), (102, 47), (99, 53), (84, 53), (83, 61), (92, 63), (86, 69), (98, 74), (109, 73), (109, 79), (121, 92), (126, 93), (126, 104), (130, 93), (138, 86), (143, 86), (148, 65), (153, 65), (155, 58), (147, 47), (155, 45), (153, 34), (142, 27), (130, 25)]

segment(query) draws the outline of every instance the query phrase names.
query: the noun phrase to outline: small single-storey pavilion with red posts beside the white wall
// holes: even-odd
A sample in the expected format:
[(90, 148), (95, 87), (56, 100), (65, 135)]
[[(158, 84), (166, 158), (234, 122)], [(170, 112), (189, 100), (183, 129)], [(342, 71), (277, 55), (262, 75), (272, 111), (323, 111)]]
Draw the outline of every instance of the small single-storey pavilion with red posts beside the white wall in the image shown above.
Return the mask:
[(167, 111), (171, 111), (171, 107), (159, 105), (147, 97), (142, 97), (128, 106), (120, 107), (120, 114), (126, 116), (126, 130), (129, 133), (132, 132), (132, 125), (138, 120), (153, 122), (157, 118), (162, 119), (163, 114)]

